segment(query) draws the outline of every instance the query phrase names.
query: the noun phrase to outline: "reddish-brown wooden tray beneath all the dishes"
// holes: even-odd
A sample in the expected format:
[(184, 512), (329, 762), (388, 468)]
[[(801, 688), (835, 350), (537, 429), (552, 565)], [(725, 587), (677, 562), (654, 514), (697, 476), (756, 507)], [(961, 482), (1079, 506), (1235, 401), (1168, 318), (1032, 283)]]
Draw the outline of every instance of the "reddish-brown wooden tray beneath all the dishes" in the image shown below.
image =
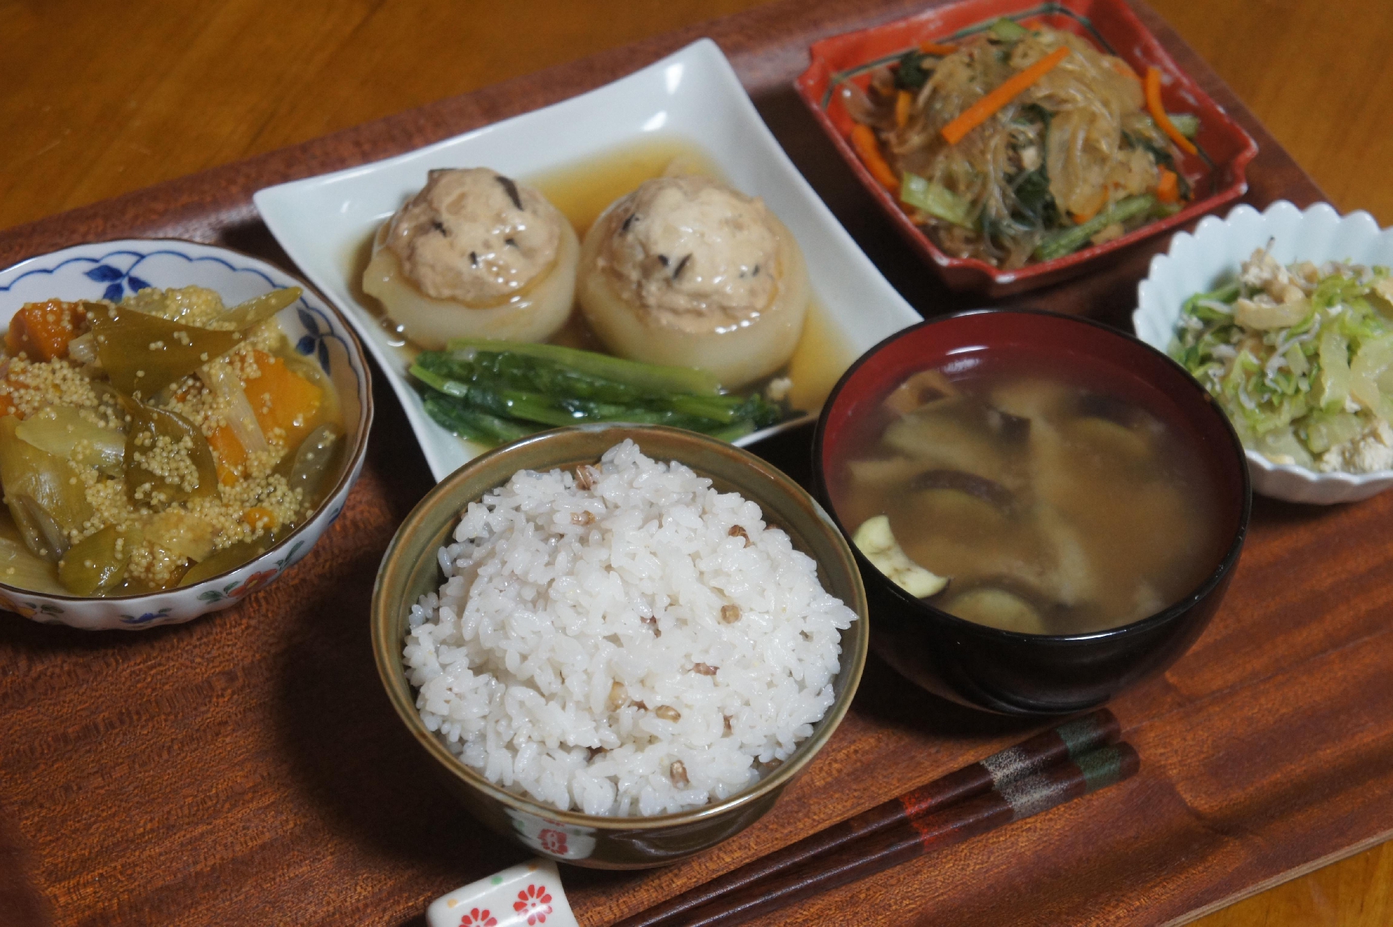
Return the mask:
[[(925, 313), (943, 290), (853, 182), (791, 90), (807, 46), (922, 3), (788, 0), (298, 148), (0, 232), (0, 266), (82, 241), (173, 235), (288, 266), (256, 219), (269, 184), (396, 154), (598, 86), (710, 35), (833, 210)], [(1321, 192), (1153, 13), (1151, 26), (1258, 139), (1248, 202)], [(1165, 239), (1015, 303), (1126, 326)], [(379, 387), (383, 377), (379, 373)], [(524, 857), (437, 785), (382, 693), (368, 599), (429, 489), (386, 390), (362, 480), (293, 575), (234, 610), (141, 633), (0, 617), (0, 920), (7, 924), (419, 924), (436, 895)], [(795, 475), (807, 438), (765, 452)], [(1224, 608), (1165, 678), (1113, 706), (1135, 779), (790, 908), (787, 924), (1160, 924), (1393, 832), (1393, 494), (1259, 500)], [(846, 722), (747, 832), (649, 873), (567, 870), (603, 924), (1027, 734), (937, 702), (872, 660)]]

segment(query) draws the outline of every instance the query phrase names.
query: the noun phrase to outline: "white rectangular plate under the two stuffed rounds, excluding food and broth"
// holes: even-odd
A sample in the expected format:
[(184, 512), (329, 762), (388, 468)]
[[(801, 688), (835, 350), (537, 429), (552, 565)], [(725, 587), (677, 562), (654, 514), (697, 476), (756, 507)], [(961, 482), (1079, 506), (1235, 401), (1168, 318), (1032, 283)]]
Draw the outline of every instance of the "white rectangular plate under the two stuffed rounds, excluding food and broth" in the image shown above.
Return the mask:
[(733, 187), (762, 196), (793, 231), (815, 299), (848, 359), (921, 320), (784, 154), (710, 39), (554, 106), (383, 161), (258, 191), (256, 209), (281, 248), (343, 310), (386, 370), (437, 480), (472, 452), (426, 416), (405, 359), (354, 295), (350, 273), (361, 273), (352, 271), (354, 253), (425, 187), (432, 168), (492, 167), (527, 178), (655, 134), (695, 142)]

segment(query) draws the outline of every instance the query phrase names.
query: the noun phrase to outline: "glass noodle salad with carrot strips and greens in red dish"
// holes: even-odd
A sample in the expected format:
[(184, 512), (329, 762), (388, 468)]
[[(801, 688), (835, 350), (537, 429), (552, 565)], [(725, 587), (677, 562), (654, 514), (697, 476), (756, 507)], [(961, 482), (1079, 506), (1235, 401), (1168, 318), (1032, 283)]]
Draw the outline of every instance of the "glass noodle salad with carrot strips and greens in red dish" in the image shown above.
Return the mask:
[(866, 168), (950, 255), (999, 267), (1103, 244), (1190, 199), (1199, 121), (1081, 36), (997, 19), (841, 85)]

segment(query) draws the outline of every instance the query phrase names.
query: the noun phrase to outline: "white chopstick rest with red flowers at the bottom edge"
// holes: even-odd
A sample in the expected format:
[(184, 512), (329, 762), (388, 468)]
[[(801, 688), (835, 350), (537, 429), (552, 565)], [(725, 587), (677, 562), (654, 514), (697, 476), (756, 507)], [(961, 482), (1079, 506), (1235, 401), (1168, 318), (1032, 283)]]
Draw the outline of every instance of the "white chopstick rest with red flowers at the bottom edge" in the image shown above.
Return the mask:
[(579, 927), (556, 863), (534, 859), (430, 902), (429, 927)]

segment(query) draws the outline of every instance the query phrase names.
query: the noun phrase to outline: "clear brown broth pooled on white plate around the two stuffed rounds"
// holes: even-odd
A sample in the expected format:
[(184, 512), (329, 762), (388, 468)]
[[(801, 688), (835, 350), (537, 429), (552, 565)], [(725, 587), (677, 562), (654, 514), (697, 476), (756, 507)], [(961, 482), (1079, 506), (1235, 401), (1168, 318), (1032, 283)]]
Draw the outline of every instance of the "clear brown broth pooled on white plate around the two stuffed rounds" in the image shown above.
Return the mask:
[[(701, 174), (729, 182), (706, 152), (695, 142), (677, 135), (656, 135), (520, 180), (552, 200), (571, 221), (575, 234), (584, 239), (585, 232), (610, 203), (632, 192), (644, 181), (667, 174)], [(362, 291), (362, 271), (372, 258), (375, 232), (376, 230), (365, 235), (347, 256), (345, 273), (350, 290), (358, 305), (366, 306), (375, 315), (378, 323), (387, 331), (393, 348), (410, 363), (421, 348), (401, 335), (376, 298)], [(574, 309), (566, 326), (552, 337), (552, 342), (585, 351), (605, 349), (585, 324), (585, 317)], [(854, 359), (836, 323), (814, 295), (798, 347), (794, 348), (787, 366), (775, 376), (787, 376), (793, 380), (793, 388), (788, 391), (791, 409), (816, 412)], [(763, 388), (766, 383), (768, 380), (762, 380), (749, 388)]]

